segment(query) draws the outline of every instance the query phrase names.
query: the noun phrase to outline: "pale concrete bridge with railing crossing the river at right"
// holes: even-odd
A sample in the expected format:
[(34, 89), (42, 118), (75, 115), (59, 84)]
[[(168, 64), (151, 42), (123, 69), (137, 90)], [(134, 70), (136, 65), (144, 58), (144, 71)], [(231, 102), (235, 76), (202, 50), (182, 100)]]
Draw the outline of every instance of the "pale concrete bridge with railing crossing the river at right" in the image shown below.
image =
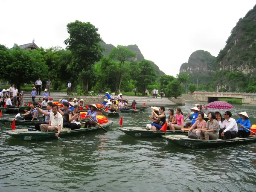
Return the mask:
[(242, 99), (242, 104), (256, 105), (256, 93), (232, 93), (232, 92), (198, 92), (193, 93), (198, 101), (214, 102), (222, 98), (237, 98)]

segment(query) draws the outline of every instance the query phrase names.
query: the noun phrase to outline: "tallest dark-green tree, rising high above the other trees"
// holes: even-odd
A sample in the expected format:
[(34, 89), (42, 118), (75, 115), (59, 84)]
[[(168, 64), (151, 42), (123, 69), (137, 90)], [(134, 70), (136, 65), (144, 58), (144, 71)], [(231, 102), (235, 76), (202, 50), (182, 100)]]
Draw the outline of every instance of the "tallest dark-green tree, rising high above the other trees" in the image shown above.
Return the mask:
[[(83, 23), (76, 20), (73, 23), (68, 23), (67, 32), (70, 34), (70, 37), (64, 43), (75, 58), (72, 70), (78, 72), (76, 77), (81, 78), (83, 92), (86, 86), (87, 94), (90, 79), (94, 77), (90, 73), (85, 72), (90, 71), (92, 69), (91, 65), (94, 65), (95, 62), (102, 58), (104, 49), (99, 44), (102, 39), (98, 33), (98, 28), (90, 22)], [(84, 76), (84, 74), (89, 76)]]

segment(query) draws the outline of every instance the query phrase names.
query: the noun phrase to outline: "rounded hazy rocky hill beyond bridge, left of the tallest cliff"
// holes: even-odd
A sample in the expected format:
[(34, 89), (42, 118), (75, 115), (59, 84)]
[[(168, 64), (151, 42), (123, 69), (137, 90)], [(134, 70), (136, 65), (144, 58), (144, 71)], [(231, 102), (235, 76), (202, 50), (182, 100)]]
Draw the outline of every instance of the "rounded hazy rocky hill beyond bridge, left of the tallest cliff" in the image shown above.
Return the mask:
[(180, 73), (188, 73), (190, 75), (189, 81), (192, 84), (196, 84), (197, 79), (201, 82), (200, 84), (206, 84), (216, 72), (215, 59), (207, 51), (195, 51), (190, 55), (189, 61), (180, 66)]

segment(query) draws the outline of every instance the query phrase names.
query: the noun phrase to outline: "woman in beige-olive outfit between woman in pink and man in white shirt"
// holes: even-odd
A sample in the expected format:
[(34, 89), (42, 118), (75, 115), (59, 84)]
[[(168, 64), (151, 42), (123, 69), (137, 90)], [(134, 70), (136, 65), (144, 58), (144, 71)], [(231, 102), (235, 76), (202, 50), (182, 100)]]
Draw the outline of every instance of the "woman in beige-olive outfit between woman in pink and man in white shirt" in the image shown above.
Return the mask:
[(219, 136), (220, 126), (218, 124), (218, 121), (215, 119), (215, 113), (210, 112), (208, 113), (208, 121), (206, 124), (206, 128), (202, 129), (202, 132), (200, 133), (199, 139), (205, 138), (205, 140), (216, 140)]

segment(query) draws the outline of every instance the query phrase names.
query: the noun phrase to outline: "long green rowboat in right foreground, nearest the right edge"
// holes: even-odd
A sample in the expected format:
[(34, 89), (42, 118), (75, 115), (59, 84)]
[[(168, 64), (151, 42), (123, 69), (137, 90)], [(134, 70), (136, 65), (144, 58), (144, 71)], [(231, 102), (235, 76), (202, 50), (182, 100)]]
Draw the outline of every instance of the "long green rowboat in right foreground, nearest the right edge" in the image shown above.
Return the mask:
[(168, 140), (169, 143), (191, 148), (213, 148), (226, 145), (256, 142), (256, 137), (253, 136), (249, 136), (247, 138), (236, 137), (231, 140), (195, 140), (189, 139), (188, 136), (185, 135), (163, 135), (162, 137)]

